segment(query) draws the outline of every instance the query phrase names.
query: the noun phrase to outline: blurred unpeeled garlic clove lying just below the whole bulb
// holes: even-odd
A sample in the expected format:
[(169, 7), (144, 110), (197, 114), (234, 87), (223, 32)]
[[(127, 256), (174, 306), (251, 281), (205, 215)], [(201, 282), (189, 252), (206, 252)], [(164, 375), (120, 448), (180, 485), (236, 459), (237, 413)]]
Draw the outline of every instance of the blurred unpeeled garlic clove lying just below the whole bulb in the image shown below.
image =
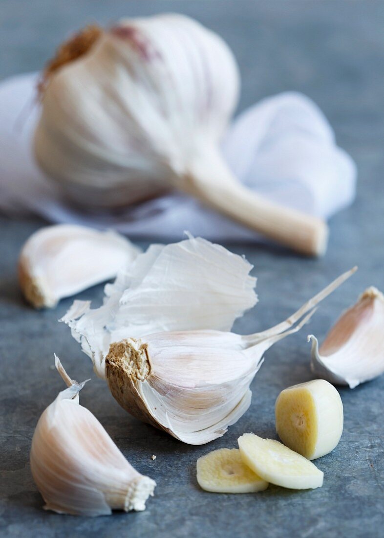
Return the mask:
[(140, 252), (118, 233), (57, 224), (27, 240), (19, 257), (19, 282), (35, 308), (52, 308), (64, 297), (115, 277)]

